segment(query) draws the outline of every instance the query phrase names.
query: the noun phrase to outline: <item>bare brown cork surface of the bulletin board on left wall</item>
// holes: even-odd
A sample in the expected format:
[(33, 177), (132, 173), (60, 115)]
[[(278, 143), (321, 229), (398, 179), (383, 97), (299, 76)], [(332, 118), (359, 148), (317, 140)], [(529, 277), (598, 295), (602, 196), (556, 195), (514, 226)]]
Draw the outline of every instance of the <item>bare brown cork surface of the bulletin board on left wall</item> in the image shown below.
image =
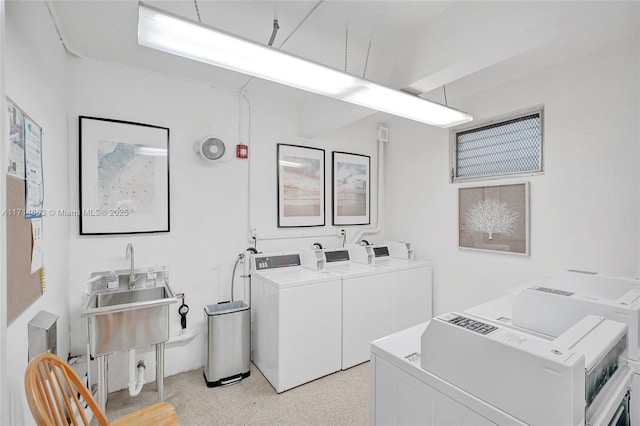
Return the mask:
[(24, 217), (24, 196), (25, 181), (7, 176), (7, 322), (42, 295), (40, 270), (31, 273), (33, 237), (31, 221)]

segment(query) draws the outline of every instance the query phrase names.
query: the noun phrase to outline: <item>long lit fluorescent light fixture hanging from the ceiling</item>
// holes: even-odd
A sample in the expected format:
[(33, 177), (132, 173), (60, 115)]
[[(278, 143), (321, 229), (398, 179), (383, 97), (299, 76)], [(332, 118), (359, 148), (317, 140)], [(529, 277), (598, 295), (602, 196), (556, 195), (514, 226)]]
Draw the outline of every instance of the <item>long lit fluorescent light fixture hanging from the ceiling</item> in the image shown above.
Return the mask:
[(143, 2), (138, 6), (138, 44), (433, 126), (450, 127), (473, 119), (454, 108), (190, 21)]

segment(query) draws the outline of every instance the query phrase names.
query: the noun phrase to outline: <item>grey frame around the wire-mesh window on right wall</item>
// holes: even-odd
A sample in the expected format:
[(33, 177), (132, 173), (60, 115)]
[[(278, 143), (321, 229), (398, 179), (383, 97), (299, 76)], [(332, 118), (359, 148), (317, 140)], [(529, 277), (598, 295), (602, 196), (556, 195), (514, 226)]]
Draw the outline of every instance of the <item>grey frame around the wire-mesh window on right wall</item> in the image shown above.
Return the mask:
[[(523, 118), (529, 115), (540, 115), (540, 147), (539, 147), (539, 168), (537, 170), (514, 172), (514, 173), (500, 173), (494, 175), (482, 175), (473, 177), (458, 177), (458, 134), (462, 132), (468, 132), (470, 130), (481, 129), (483, 127), (501, 124), (510, 120)], [(544, 174), (544, 105), (535, 105), (516, 111), (511, 111), (506, 114), (497, 115), (491, 118), (487, 118), (480, 121), (472, 121), (460, 126), (452, 127), (449, 130), (449, 182), (450, 183), (463, 183), (463, 182), (478, 182), (484, 180), (496, 180), (496, 179), (509, 179), (524, 176), (538, 176)]]

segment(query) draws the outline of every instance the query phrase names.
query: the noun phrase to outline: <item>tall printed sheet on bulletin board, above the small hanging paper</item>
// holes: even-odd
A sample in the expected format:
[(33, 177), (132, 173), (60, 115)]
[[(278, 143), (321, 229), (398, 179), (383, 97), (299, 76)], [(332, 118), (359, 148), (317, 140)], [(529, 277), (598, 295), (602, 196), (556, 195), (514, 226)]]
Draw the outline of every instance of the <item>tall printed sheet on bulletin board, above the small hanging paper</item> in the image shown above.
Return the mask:
[(42, 217), (44, 181), (42, 177), (42, 129), (28, 117), (24, 118), (25, 165), (27, 190), (25, 217)]

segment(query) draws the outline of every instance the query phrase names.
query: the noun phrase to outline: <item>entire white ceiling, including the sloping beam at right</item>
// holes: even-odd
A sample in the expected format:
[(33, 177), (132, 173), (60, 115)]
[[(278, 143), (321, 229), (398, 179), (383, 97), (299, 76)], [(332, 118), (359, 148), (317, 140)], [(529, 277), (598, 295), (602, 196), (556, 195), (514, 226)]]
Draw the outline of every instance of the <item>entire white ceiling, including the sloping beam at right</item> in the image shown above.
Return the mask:
[[(68, 50), (78, 56), (231, 89), (249, 80), (232, 71), (138, 46), (137, 1), (48, 3)], [(148, 3), (198, 19), (193, 0)], [(341, 70), (348, 29), (348, 72), (362, 76), (371, 42), (367, 79), (415, 93), (441, 90), (447, 84), (448, 92), (453, 93), (450, 99), (461, 90), (478, 90), (510, 75), (533, 72), (623, 37), (637, 36), (640, 19), (640, 3), (635, 1), (198, 0), (197, 4), (203, 23), (264, 44), (277, 17), (280, 29), (275, 47)], [(508, 74), (499, 72), (501, 69)], [(250, 90), (278, 91), (299, 102), (312, 102), (307, 105), (312, 109), (309, 116), (326, 116), (335, 109), (335, 103), (258, 79), (251, 82)], [(344, 111), (334, 114), (348, 115)], [(337, 125), (341, 124), (345, 123)]]

